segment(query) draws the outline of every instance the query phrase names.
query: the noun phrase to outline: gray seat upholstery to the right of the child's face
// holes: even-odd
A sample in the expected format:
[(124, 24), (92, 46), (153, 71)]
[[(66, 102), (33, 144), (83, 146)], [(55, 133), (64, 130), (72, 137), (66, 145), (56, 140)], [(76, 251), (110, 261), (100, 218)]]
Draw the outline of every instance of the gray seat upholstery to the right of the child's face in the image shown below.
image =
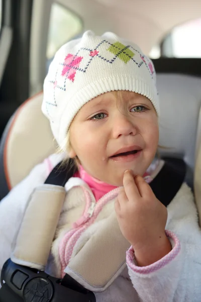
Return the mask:
[(183, 158), (188, 166), (187, 182), (192, 184), (197, 123), (201, 104), (201, 79), (188, 75), (159, 74), (159, 144), (162, 156)]

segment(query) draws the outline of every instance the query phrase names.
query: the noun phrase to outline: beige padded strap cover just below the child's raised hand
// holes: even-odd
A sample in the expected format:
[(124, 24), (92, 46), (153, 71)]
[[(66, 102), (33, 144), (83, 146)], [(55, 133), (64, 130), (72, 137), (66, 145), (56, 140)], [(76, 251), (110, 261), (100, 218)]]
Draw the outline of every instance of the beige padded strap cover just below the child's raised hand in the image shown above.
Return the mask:
[(64, 271), (85, 288), (104, 291), (126, 267), (126, 251), (130, 246), (114, 211)]

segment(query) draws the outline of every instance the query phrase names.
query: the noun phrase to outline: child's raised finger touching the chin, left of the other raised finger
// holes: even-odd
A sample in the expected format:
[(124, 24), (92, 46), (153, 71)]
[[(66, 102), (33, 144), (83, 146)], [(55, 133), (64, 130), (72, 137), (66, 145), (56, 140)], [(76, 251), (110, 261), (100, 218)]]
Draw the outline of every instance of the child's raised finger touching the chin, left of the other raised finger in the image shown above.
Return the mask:
[(138, 187), (135, 184), (132, 171), (125, 171), (123, 184), (128, 199), (132, 199), (134, 196), (140, 197), (140, 193), (138, 191)]

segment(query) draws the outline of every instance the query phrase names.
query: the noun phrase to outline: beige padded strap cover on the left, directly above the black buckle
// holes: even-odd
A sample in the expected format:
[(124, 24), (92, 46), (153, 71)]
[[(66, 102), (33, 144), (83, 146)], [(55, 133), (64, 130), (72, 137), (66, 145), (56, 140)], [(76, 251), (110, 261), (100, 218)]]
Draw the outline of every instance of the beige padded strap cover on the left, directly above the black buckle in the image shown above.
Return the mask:
[(65, 198), (60, 186), (42, 185), (31, 195), (11, 260), (44, 270)]

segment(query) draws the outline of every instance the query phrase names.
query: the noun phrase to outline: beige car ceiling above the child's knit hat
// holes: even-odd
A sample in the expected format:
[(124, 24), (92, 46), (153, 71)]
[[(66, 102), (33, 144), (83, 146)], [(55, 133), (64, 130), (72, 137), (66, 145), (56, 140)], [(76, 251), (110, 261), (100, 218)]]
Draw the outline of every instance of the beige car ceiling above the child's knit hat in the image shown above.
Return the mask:
[(59, 0), (81, 17), (84, 30), (113, 31), (135, 41), (145, 53), (173, 27), (201, 18), (201, 1)]

